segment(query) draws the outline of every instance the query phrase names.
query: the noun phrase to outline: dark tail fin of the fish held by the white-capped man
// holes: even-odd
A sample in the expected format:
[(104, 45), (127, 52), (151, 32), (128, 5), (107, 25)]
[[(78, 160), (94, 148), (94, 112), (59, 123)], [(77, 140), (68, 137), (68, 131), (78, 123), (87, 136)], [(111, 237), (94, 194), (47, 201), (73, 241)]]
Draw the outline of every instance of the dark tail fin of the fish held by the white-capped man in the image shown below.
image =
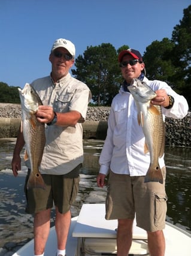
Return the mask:
[(40, 171), (37, 171), (36, 173), (34, 173), (34, 171), (31, 172), (27, 183), (27, 189), (29, 188), (46, 188)]

